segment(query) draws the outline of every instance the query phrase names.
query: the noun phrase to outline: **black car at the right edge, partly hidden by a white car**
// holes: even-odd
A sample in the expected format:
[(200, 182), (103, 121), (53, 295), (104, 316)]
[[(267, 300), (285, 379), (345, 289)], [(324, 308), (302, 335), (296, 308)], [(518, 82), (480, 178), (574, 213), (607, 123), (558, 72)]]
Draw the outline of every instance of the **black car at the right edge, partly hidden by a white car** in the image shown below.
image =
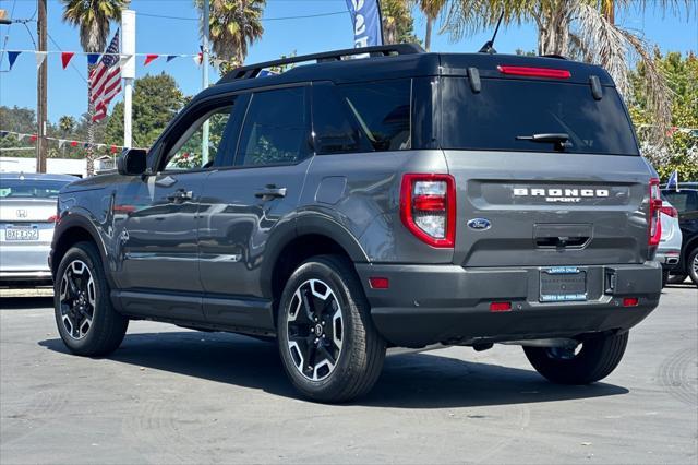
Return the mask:
[(669, 283), (683, 283), (690, 276), (698, 286), (698, 182), (682, 182), (678, 190), (663, 189), (662, 195), (678, 212), (683, 235), (681, 259), (672, 270)]

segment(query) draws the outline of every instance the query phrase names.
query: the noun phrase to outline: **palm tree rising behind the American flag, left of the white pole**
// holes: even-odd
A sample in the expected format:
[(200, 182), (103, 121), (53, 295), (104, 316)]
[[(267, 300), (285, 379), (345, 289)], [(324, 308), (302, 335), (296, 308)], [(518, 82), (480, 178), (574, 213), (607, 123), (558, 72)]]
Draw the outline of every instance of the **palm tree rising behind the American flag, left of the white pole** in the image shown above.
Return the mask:
[[(61, 0), (63, 3), (63, 21), (80, 29), (80, 45), (87, 53), (98, 53), (107, 46), (110, 22), (121, 19), (121, 10), (130, 0)], [(92, 67), (87, 65), (87, 75)], [(89, 86), (88, 86), (89, 88)], [(87, 127), (87, 141), (89, 147), (85, 158), (87, 159), (87, 176), (95, 172), (95, 162), (92, 144), (94, 143), (94, 128), (92, 115), (95, 107), (87, 93), (87, 108), (91, 116)]]

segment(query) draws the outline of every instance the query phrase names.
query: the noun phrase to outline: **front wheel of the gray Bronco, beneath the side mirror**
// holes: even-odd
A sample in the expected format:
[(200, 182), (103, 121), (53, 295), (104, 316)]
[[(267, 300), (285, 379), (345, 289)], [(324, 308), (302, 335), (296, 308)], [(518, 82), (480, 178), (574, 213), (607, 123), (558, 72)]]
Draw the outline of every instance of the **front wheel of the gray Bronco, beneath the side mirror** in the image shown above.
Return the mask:
[(109, 290), (92, 242), (79, 242), (65, 252), (56, 273), (53, 308), (58, 332), (73, 354), (105, 356), (123, 341), (129, 319), (113, 309)]

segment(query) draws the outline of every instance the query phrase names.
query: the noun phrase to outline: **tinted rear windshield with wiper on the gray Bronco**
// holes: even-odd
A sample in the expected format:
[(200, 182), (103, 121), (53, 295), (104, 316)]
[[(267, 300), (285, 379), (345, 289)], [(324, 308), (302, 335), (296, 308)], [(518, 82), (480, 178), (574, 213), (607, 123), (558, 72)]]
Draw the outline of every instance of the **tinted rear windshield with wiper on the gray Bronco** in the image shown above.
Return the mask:
[(554, 152), (555, 143), (517, 136), (567, 134), (564, 152), (639, 155), (612, 87), (595, 100), (585, 84), (483, 79), (473, 93), (467, 78), (445, 78), (442, 108), (444, 148)]

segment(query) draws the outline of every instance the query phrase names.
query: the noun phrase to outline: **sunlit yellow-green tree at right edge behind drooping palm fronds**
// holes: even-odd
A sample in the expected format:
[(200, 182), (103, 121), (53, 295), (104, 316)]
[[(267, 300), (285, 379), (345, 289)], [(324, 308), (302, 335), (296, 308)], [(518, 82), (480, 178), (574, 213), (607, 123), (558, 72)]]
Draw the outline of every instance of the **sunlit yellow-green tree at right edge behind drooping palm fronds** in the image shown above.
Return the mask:
[(661, 56), (654, 51), (654, 61), (671, 90), (671, 128), (665, 146), (652, 142), (655, 126), (647, 98), (647, 69), (639, 63), (630, 74), (633, 93), (628, 99), (630, 116), (636, 124), (642, 155), (660, 174), (662, 180), (675, 169), (679, 180), (698, 179), (698, 57), (693, 52), (683, 57), (678, 52)]

